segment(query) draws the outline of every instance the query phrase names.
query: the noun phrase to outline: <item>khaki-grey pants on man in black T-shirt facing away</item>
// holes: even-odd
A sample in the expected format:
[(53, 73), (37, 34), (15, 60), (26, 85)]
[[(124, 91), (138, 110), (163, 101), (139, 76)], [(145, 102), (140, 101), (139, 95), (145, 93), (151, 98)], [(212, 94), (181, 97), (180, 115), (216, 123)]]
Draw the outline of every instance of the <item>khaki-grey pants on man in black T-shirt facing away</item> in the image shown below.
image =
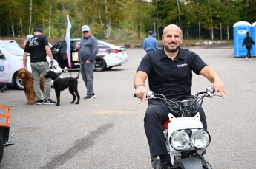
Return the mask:
[(51, 79), (44, 77), (44, 92), (43, 97), (40, 90), (40, 77), (41, 75), (46, 75), (47, 72), (50, 70), (48, 62), (36, 62), (30, 63), (32, 69), (32, 76), (33, 76), (33, 88), (36, 94), (36, 101), (37, 100), (47, 100), (50, 99), (50, 88), (51, 88)]

